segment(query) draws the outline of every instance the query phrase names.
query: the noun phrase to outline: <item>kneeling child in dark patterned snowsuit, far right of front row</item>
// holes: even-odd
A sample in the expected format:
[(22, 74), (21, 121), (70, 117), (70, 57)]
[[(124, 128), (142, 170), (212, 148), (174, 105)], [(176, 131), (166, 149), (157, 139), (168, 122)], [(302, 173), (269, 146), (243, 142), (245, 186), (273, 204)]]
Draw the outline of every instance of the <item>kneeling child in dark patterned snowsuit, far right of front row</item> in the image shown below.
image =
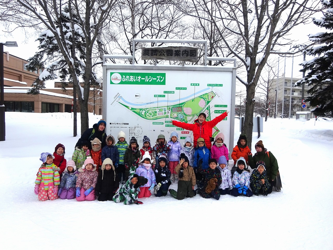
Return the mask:
[(259, 194), (267, 195), (267, 190), (270, 187), (268, 176), (266, 172), (266, 166), (263, 161), (258, 161), (256, 169), (253, 170), (250, 176), (250, 187), (254, 195)]

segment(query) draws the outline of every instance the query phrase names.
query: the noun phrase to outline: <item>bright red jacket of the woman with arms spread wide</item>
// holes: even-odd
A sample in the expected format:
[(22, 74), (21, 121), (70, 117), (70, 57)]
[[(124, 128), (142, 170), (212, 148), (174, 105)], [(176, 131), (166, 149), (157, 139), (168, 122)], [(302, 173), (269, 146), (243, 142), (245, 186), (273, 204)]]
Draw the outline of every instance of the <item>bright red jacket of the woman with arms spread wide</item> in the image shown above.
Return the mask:
[(227, 115), (228, 114), (224, 112), (223, 114), (220, 114), (211, 121), (203, 121), (202, 125), (199, 124), (198, 119), (194, 121), (194, 124), (188, 124), (178, 121), (172, 121), (172, 124), (177, 127), (193, 131), (194, 148), (196, 147), (197, 139), (202, 137), (205, 140), (206, 147), (210, 149), (210, 137), (212, 136), (213, 127), (215, 127), (216, 124), (222, 121)]

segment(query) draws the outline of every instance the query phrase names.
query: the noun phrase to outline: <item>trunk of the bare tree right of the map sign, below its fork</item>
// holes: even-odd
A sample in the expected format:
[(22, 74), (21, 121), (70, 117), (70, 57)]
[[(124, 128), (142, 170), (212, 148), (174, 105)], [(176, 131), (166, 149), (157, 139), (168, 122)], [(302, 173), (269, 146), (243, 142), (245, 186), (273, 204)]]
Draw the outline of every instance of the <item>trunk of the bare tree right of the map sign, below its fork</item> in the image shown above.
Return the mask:
[(250, 84), (246, 90), (246, 105), (245, 105), (245, 118), (244, 118), (244, 134), (247, 137), (247, 146), (251, 149), (252, 144), (252, 130), (253, 130), (253, 111), (254, 111), (254, 93), (255, 84)]

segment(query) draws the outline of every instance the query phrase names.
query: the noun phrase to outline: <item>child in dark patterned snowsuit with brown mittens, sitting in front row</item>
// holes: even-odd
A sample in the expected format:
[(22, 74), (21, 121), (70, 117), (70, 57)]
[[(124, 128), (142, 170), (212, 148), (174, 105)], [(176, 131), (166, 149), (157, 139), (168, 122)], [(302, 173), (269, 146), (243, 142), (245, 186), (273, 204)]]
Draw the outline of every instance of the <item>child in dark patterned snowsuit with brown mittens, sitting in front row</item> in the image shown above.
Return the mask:
[(200, 174), (204, 176), (203, 188), (196, 190), (203, 198), (213, 197), (218, 200), (220, 198), (220, 191), (218, 187), (222, 183), (221, 172), (216, 168), (217, 161), (215, 159), (209, 159), (208, 169), (199, 169)]

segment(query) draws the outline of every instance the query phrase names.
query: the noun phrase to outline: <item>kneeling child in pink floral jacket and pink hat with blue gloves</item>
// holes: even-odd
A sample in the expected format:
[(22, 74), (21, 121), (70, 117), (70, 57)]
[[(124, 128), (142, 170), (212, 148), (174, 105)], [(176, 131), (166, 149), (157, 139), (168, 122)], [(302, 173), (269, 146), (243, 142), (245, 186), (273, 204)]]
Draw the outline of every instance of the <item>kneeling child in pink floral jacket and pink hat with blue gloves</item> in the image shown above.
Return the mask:
[(76, 200), (93, 201), (95, 200), (95, 187), (98, 173), (94, 160), (89, 156), (84, 161), (82, 168), (79, 169), (79, 177), (76, 181)]

